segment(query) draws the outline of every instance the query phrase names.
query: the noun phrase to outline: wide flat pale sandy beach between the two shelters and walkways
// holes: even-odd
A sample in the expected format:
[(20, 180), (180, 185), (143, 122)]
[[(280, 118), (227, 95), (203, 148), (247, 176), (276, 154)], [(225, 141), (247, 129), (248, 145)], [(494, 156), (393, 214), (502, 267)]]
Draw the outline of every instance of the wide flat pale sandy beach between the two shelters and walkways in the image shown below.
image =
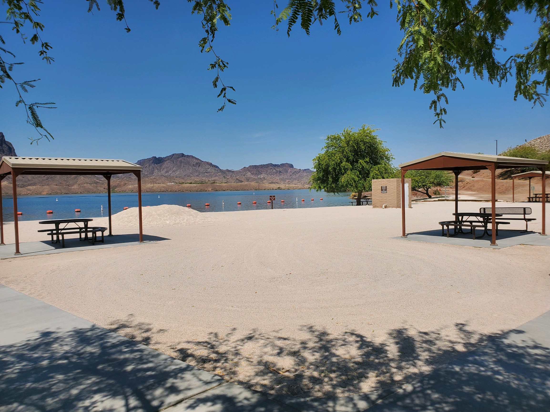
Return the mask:
[[(532, 207), (540, 231), (541, 205), (514, 205)], [(454, 211), (413, 206), (409, 233)], [(548, 247), (394, 239), (400, 209), (209, 215), (145, 227), (167, 239), (156, 243), (1, 260), (0, 282), (229, 381), (300, 397), (410, 382), (550, 310)], [(20, 222), (20, 241), (46, 240), (38, 226)], [(12, 243), (13, 223), (4, 233)]]

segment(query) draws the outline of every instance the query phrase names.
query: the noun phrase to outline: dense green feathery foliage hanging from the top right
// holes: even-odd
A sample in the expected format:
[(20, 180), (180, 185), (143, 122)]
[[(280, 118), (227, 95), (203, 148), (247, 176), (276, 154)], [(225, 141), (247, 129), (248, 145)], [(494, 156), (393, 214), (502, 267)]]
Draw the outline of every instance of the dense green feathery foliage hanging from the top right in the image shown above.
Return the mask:
[[(342, 4), (337, 10), (336, 4)], [(338, 13), (348, 13), (349, 23), (362, 21), (362, 4), (370, 6), (367, 16), (377, 15), (373, 0), (289, 0), (276, 24), (287, 20), (287, 34), (300, 18), (310, 34), (312, 24), (334, 16), (334, 29), (341, 29)], [(433, 94), (430, 109), (439, 127), (445, 123), (447, 95), (444, 90), (464, 88), (460, 73), (491, 83), (508, 81), (515, 72), (514, 100), (521, 96), (541, 106), (550, 90), (550, 1), (549, 0), (390, 0), (395, 5), (403, 38), (397, 48), (399, 59), (393, 70), (393, 86), (413, 82), (414, 90)], [(523, 54), (500, 62), (495, 51), (501, 47), (511, 26), (510, 14), (533, 14), (538, 21), (538, 39)], [(504, 49), (505, 51), (505, 49)]]

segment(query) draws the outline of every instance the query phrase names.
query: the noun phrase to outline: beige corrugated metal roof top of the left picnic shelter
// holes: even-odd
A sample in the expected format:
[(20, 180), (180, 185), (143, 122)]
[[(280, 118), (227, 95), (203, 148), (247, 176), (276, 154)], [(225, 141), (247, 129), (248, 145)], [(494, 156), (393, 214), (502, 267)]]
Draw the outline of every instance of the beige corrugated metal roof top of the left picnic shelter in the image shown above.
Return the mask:
[(123, 159), (87, 159), (68, 157), (24, 157), (4, 156), (0, 163), (5, 162), (12, 168), (74, 168), (74, 169), (126, 169), (141, 170), (141, 166)]

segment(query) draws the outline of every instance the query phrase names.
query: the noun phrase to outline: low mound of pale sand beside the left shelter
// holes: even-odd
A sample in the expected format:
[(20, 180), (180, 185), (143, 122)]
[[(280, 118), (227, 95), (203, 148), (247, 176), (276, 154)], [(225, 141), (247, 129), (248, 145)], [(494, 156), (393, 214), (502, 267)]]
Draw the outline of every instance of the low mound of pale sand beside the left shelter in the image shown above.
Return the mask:
[[(145, 227), (174, 227), (196, 225), (213, 221), (211, 216), (176, 204), (147, 206), (142, 209)], [(112, 216), (113, 226), (136, 227), (139, 225), (138, 208), (123, 210)]]

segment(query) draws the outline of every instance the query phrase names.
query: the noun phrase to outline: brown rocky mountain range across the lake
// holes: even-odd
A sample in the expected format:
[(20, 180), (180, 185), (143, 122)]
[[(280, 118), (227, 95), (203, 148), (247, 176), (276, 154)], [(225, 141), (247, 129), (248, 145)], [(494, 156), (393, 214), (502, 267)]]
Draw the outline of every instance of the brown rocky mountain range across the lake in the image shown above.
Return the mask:
[[(16, 156), (13, 145), (0, 132), (0, 155)], [(191, 192), (212, 190), (267, 190), (309, 187), (310, 169), (296, 169), (290, 163), (250, 165), (239, 170), (221, 169), (195, 156), (174, 153), (166, 157), (138, 160), (142, 166), (144, 192)], [(101, 176), (32, 176), (18, 178), (20, 194), (102, 193), (107, 190)], [(135, 192), (133, 175), (113, 176), (116, 192)], [(11, 179), (2, 182), (2, 192), (11, 193)]]

